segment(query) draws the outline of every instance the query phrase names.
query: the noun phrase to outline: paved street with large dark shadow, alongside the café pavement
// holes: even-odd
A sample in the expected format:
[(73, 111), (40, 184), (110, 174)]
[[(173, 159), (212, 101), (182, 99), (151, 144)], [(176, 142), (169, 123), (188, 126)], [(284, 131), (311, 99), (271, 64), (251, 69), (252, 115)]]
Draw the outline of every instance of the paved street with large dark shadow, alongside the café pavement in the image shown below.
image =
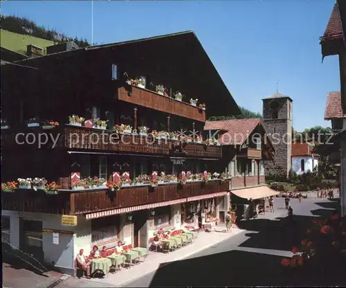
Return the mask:
[[(185, 260), (166, 264), (125, 287), (201, 287), (201, 286), (267, 286), (267, 285), (321, 285), (315, 275), (305, 278), (284, 277), (280, 262), (282, 256), (292, 255), (294, 243), (300, 242), (307, 220), (327, 215), (336, 202), (326, 199), (291, 199), (295, 228), (281, 226), (286, 216), (284, 199), (275, 199), (275, 213), (241, 224), (245, 233), (235, 235), (215, 246), (191, 255)], [(269, 218), (279, 218), (269, 220)], [(280, 217), (281, 216), (281, 217)], [(281, 218), (281, 219), (280, 219)], [(314, 281), (315, 280), (315, 281)], [(345, 279), (344, 279), (345, 280)], [(325, 279), (325, 283), (333, 280)], [(344, 282), (345, 284), (345, 282)]]

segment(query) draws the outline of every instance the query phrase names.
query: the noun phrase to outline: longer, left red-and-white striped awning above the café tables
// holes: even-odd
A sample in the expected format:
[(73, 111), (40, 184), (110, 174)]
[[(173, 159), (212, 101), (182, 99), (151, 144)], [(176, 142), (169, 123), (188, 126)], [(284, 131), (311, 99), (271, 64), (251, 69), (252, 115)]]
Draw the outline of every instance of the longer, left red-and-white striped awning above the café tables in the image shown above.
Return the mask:
[(154, 208), (163, 207), (163, 206), (180, 204), (180, 203), (186, 202), (186, 200), (187, 200), (186, 198), (183, 198), (183, 199), (177, 199), (177, 200), (172, 200), (172, 201), (165, 201), (165, 202), (158, 202), (158, 203), (153, 203), (153, 204), (146, 204), (146, 205), (140, 205), (140, 206), (132, 206), (132, 207), (126, 207), (126, 208), (107, 210), (107, 211), (102, 211), (102, 212), (86, 214), (85, 217), (87, 220), (89, 220), (89, 219), (101, 218), (101, 217), (106, 217), (106, 216), (111, 216), (111, 215), (122, 214), (122, 213), (131, 213), (131, 212), (138, 211), (138, 210), (147, 210), (147, 209), (154, 209)]

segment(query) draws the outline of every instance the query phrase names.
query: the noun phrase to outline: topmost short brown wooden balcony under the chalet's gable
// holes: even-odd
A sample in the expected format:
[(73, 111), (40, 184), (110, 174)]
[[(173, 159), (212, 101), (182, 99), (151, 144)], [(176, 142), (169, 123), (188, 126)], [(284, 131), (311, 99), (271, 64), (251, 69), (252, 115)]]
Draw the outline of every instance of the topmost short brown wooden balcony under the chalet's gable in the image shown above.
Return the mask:
[(194, 107), (185, 102), (179, 102), (172, 98), (162, 96), (154, 91), (131, 87), (129, 93), (125, 87), (118, 89), (118, 100), (140, 105), (157, 111), (176, 116), (182, 116), (193, 120), (206, 122), (206, 111)]

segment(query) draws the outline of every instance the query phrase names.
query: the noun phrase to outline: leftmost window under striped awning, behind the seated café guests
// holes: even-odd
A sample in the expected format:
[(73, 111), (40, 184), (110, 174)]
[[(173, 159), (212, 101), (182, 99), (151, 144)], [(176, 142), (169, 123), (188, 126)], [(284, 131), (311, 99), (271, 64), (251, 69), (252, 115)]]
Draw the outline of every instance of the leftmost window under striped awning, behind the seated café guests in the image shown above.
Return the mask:
[(91, 220), (91, 242), (97, 245), (118, 240), (119, 215)]

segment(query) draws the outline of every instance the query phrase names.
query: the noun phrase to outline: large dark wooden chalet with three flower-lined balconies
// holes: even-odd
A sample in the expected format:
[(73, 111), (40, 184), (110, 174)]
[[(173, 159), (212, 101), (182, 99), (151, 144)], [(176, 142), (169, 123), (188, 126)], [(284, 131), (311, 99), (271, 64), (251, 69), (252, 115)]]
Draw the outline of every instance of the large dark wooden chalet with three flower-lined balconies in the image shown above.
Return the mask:
[(2, 192), (10, 244), (71, 271), (80, 249), (147, 247), (158, 228), (198, 225), (188, 217), (197, 206), (215, 218), (228, 210), (230, 177), (212, 176), (224, 171), (223, 149), (203, 127), (207, 114), (240, 111), (193, 32), (16, 64), (37, 73), (1, 73), (3, 182), (44, 177), (61, 188)]

